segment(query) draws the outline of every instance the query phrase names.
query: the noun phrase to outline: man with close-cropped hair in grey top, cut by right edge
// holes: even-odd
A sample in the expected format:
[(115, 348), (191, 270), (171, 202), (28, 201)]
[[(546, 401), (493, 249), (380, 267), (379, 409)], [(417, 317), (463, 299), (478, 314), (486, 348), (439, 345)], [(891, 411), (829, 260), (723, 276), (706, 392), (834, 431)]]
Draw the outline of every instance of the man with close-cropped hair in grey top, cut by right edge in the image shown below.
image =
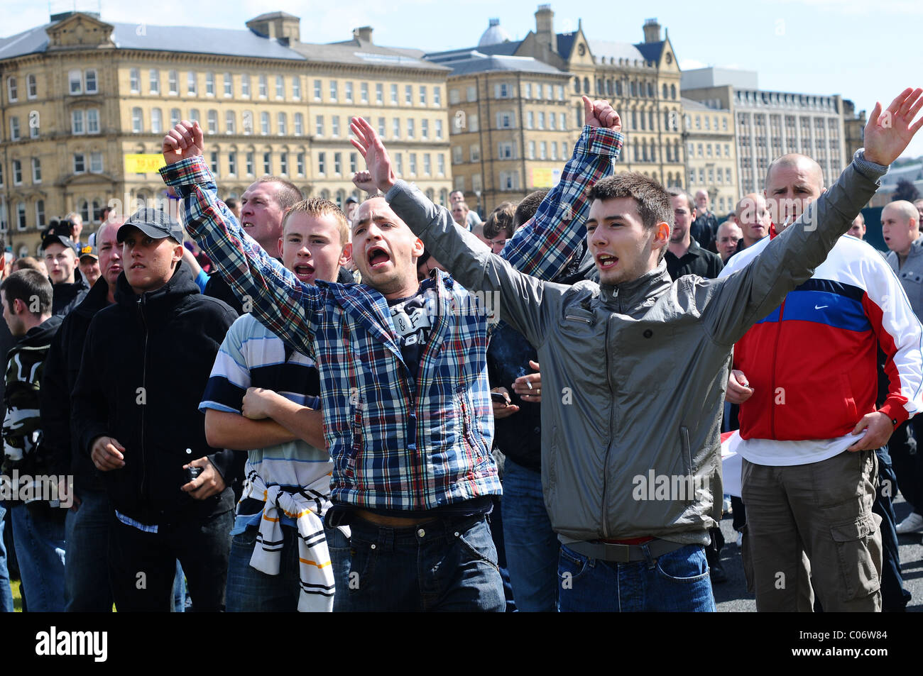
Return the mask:
[[(923, 237), (919, 231), (919, 212), (910, 202), (899, 200), (881, 209), (881, 236), (891, 252), (888, 265), (897, 273), (917, 318), (923, 317)], [(917, 441), (905, 442), (906, 434), (895, 433), (891, 445), (897, 486), (913, 511), (897, 525), (897, 533), (905, 535), (923, 531), (923, 416), (910, 421)], [(903, 431), (902, 431), (903, 432)]]

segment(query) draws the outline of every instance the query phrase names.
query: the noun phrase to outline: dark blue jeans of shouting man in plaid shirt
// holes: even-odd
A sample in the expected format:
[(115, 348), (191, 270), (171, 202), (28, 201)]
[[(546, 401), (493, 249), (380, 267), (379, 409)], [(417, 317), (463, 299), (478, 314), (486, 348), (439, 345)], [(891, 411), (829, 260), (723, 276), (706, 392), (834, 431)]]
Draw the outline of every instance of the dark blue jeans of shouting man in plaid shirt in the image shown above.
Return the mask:
[(350, 528), (343, 611), (506, 610), (485, 516), (443, 517), (413, 528), (354, 518)]

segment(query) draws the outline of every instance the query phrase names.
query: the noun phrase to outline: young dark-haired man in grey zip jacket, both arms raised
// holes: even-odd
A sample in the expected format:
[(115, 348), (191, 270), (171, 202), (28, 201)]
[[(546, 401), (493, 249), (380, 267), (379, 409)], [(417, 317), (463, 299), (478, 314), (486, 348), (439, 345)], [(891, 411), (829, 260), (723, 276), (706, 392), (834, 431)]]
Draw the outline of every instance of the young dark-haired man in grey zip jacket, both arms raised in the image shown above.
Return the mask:
[(601, 283), (546, 283), (397, 180), (375, 130), (354, 118), (354, 145), (390, 207), (466, 288), (500, 291), (500, 318), (538, 350), (562, 611), (714, 610), (702, 546), (721, 514), (719, 422), (732, 347), (849, 228), (923, 125), (911, 125), (921, 94), (906, 89), (885, 115), (876, 104), (864, 151), (749, 267), (673, 282), (663, 261), (670, 198), (641, 174), (593, 185), (586, 230)]

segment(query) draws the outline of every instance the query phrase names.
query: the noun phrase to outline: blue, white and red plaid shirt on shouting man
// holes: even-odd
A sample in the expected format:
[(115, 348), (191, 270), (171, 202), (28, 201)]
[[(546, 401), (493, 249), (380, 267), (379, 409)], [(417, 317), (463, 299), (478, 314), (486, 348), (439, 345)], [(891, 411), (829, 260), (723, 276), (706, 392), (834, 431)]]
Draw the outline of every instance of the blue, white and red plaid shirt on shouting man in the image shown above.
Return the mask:
[[(622, 135), (586, 126), (561, 180), (503, 250), (521, 271), (554, 278), (580, 242), (586, 188), (612, 172)], [(366, 284), (302, 284), (243, 231), (218, 199), (201, 157), (161, 170), (184, 197), (186, 228), (253, 314), (313, 358), (324, 434), (333, 458), (331, 499), (366, 509), (426, 510), (499, 494), (490, 449), (488, 317), (443, 272), (418, 378), (403, 362), (385, 297)], [(462, 309), (460, 311), (460, 309)]]

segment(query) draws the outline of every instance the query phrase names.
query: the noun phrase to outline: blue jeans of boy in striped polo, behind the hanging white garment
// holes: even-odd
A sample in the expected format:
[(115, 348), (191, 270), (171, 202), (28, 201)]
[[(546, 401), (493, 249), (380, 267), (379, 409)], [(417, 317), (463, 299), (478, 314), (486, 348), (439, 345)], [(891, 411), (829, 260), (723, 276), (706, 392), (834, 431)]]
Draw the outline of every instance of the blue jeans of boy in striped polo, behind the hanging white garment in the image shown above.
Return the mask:
[[(333, 597), (333, 610), (339, 611), (338, 600), (349, 586), (350, 544), (339, 528), (325, 528), (333, 581), (337, 591)], [(301, 594), (298, 562), (298, 530), (282, 526), (282, 563), (279, 575), (267, 575), (250, 565), (254, 547), (257, 546), (256, 526), (246, 528), (231, 540), (231, 558), (228, 561), (228, 612), (295, 612)]]

